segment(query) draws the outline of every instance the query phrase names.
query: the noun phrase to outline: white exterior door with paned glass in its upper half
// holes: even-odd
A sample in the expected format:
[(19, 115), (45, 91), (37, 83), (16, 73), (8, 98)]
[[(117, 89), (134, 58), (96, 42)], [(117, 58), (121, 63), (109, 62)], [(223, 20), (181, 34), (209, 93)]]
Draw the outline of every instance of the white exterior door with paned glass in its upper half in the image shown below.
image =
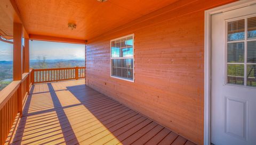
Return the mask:
[(256, 5), (211, 20), (211, 142), (255, 145)]

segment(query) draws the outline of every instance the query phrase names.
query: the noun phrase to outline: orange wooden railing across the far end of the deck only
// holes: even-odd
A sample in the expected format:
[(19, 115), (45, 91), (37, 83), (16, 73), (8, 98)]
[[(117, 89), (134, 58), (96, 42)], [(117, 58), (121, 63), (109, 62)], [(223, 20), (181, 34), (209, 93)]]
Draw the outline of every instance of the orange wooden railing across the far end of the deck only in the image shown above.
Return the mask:
[(33, 69), (32, 83), (55, 82), (85, 78), (85, 67)]

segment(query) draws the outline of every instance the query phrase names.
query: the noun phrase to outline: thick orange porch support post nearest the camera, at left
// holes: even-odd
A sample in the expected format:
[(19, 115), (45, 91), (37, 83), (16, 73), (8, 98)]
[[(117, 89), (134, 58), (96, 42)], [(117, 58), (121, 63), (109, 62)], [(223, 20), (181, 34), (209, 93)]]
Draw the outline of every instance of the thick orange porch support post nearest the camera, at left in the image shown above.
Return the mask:
[[(20, 23), (13, 23), (13, 81), (22, 80), (22, 30)], [(22, 84), (18, 89), (18, 112), (22, 116)]]

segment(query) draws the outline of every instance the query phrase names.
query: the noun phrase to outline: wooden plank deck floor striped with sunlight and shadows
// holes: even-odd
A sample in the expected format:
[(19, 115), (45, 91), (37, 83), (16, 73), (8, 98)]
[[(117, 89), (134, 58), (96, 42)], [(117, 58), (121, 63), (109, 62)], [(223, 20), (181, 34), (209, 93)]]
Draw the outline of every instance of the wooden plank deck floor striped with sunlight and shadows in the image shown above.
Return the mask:
[(11, 144), (194, 144), (84, 80), (35, 84)]

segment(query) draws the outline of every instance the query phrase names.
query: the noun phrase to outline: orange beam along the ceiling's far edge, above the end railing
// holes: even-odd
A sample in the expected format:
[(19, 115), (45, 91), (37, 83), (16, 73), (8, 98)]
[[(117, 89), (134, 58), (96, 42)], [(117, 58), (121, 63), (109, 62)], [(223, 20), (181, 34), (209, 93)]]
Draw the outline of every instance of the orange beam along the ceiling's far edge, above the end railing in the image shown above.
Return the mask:
[(29, 34), (30, 40), (41, 40), (41, 41), (53, 41), (53, 42), (66, 42), (71, 44), (86, 44), (87, 40), (63, 38), (63, 37), (53, 37), (44, 35), (34, 35)]

